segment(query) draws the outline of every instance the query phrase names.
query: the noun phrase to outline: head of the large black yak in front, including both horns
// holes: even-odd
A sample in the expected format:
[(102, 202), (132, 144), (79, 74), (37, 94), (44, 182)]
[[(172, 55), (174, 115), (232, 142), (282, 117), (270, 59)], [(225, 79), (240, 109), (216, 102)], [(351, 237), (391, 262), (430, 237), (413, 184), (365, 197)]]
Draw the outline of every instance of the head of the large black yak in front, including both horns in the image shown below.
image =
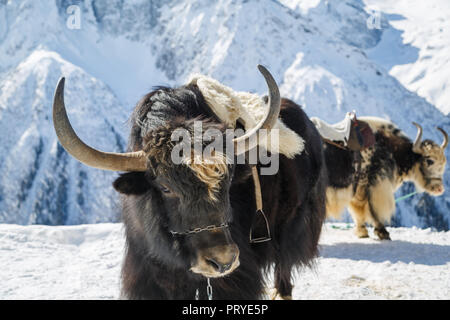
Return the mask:
[[(237, 151), (232, 157), (252, 148), (251, 141), (255, 141), (258, 131), (273, 127), (279, 115), (278, 87), (264, 67), (258, 68), (269, 88), (267, 112), (254, 128), (239, 137), (233, 136), (231, 145)], [(212, 121), (211, 118), (205, 119), (205, 114), (200, 115), (203, 118), (192, 118), (186, 114), (189, 112), (183, 111), (198, 105), (194, 101), (191, 106), (187, 101), (192, 98), (192, 92), (177, 96), (177, 90), (185, 89), (182, 87), (161, 93), (163, 98), (157, 101), (158, 104), (175, 103), (177, 106), (168, 109), (182, 112), (176, 116), (172, 112), (151, 114), (159, 117), (158, 121), (150, 121), (149, 127), (139, 138), (139, 146), (131, 146), (132, 152), (99, 151), (78, 138), (65, 111), (64, 78), (55, 92), (53, 122), (61, 145), (77, 160), (103, 170), (126, 172), (114, 182), (114, 187), (125, 194), (125, 198), (134, 199), (134, 203), (135, 199), (140, 199), (140, 205), (135, 210), (137, 213), (134, 213), (133, 228), (144, 234), (143, 241), (152, 239), (160, 243), (167, 238), (170, 245), (165, 247), (166, 250), (173, 250), (178, 258), (183, 257), (183, 265), (187, 269), (205, 277), (221, 277), (239, 266), (239, 248), (229, 228), (232, 217), (229, 190), (235, 166), (233, 159), (226, 155), (228, 152), (201, 150), (200, 155), (196, 153), (197, 140), (192, 137), (195, 136), (198, 121), (202, 124), (202, 133), (215, 129), (219, 136), (224, 137), (224, 142), (229, 140), (224, 133), (225, 126), (217, 121), (219, 116)], [(180, 99), (180, 96), (184, 98)], [(164, 121), (159, 121), (161, 118)], [(184, 132), (192, 138), (190, 143), (180, 148), (184, 151), (181, 156), (176, 149), (179, 145), (173, 140), (177, 132)], [(177, 161), (174, 161), (174, 156)], [(130, 223), (126, 217), (124, 221), (125, 224)], [(147, 247), (151, 246), (149, 243)], [(147, 252), (148, 255), (153, 253)]]

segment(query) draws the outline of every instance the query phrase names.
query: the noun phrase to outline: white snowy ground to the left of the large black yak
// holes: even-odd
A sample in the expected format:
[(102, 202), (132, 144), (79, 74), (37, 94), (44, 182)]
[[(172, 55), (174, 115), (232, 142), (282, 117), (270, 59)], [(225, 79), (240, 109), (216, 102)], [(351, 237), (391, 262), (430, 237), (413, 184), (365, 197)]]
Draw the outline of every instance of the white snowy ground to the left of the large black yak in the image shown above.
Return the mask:
[(121, 224), (0, 225), (0, 299), (117, 299)]

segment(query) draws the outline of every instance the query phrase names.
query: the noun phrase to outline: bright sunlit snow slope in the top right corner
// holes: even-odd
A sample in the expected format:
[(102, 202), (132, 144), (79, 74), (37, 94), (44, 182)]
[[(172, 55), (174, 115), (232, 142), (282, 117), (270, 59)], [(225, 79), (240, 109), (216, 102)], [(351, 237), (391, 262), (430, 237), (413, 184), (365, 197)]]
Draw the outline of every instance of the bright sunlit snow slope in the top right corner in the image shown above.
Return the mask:
[[(365, 0), (365, 3), (389, 21), (382, 41), (369, 51), (369, 57), (379, 61), (406, 88), (448, 115), (450, 2)], [(392, 41), (392, 36), (397, 39)], [(380, 50), (383, 46), (391, 50)]]

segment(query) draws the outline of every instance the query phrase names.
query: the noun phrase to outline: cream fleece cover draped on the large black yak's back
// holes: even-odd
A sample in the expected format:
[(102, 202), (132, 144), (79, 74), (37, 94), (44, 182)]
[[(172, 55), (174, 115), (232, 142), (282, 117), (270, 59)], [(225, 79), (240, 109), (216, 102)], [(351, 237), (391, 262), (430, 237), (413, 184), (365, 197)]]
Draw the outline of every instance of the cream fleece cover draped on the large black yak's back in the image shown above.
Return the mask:
[[(188, 83), (198, 86), (213, 112), (232, 128), (236, 127), (236, 121), (240, 119), (244, 123), (245, 130), (250, 130), (265, 115), (267, 106), (256, 94), (236, 92), (219, 81), (201, 74), (191, 76)], [(278, 139), (272, 137), (275, 132), (278, 133)], [(295, 157), (304, 149), (303, 138), (289, 129), (281, 119), (278, 119), (270, 130), (268, 137), (260, 139), (258, 144), (272, 153), (281, 153), (288, 158)]]

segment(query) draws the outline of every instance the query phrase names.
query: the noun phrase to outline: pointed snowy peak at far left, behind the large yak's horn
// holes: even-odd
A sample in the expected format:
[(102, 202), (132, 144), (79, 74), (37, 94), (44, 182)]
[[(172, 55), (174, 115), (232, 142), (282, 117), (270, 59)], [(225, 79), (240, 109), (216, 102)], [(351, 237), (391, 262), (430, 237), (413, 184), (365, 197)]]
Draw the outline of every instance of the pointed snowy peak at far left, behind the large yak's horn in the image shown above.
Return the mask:
[[(87, 168), (57, 144), (51, 101), (64, 74), (69, 117), (82, 139), (123, 151), (120, 103), (102, 83), (54, 53), (36, 50), (0, 84), (0, 219), (8, 223), (116, 221), (112, 176)], [(71, 108), (71, 105), (77, 108)], [(104, 114), (98, 119), (98, 113)], [(98, 192), (102, 190), (103, 192)], [(92, 214), (95, 212), (96, 214)]]

